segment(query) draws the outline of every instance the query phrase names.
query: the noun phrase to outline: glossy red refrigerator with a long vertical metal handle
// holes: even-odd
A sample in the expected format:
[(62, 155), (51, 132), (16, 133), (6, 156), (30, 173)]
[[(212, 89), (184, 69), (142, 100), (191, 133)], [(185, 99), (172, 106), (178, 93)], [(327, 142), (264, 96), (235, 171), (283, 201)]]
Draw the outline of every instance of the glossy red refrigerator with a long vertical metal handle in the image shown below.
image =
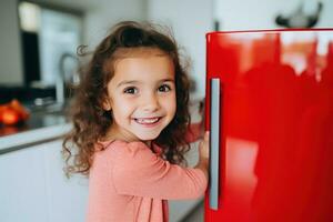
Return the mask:
[(333, 29), (206, 34), (205, 222), (333, 221)]

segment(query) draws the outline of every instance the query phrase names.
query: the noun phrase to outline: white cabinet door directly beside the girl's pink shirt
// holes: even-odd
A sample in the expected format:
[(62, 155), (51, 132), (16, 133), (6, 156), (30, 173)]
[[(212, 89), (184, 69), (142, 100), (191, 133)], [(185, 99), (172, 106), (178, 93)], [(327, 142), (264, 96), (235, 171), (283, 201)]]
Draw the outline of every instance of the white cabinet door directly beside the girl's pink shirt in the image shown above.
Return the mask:
[(48, 192), (49, 222), (83, 222), (88, 201), (88, 178), (67, 179), (62, 168), (62, 141), (47, 143), (43, 149)]

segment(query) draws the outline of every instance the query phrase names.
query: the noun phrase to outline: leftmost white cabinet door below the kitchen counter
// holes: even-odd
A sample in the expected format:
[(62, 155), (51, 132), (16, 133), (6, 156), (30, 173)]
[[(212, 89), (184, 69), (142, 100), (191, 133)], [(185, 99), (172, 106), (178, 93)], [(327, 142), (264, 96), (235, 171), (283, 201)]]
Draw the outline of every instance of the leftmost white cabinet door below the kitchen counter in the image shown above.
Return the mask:
[(43, 145), (0, 155), (0, 221), (48, 221)]

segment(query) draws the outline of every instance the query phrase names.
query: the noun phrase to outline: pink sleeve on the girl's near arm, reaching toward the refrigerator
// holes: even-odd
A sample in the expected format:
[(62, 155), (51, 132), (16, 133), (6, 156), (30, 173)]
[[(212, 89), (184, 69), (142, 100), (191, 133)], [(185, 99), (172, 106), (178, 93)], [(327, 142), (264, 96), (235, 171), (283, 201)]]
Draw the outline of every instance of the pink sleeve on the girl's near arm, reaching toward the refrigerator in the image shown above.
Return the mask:
[(114, 149), (113, 182), (119, 194), (164, 200), (201, 196), (208, 179), (200, 169), (171, 164), (144, 143), (127, 143)]

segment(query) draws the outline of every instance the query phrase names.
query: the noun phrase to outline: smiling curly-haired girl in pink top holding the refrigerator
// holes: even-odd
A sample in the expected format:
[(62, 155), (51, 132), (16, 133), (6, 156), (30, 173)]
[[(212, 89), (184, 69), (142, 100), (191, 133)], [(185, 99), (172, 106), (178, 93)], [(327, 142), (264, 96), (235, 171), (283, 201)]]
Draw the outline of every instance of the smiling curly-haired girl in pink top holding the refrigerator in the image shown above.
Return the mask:
[(67, 172), (89, 173), (87, 221), (168, 221), (167, 200), (204, 193), (208, 133), (198, 165), (180, 165), (189, 150), (189, 79), (172, 38), (119, 23), (95, 49), (73, 102), (63, 147)]

